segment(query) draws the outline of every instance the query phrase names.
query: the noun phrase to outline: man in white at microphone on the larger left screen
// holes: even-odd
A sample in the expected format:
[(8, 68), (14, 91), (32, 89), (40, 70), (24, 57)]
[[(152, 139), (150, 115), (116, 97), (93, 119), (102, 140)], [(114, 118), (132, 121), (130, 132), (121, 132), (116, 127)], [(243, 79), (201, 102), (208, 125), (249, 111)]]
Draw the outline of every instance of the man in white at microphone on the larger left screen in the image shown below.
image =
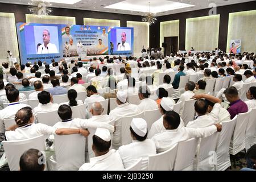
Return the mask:
[(55, 44), (50, 43), (50, 32), (47, 29), (43, 30), (43, 44), (39, 46), (38, 53), (59, 53)]

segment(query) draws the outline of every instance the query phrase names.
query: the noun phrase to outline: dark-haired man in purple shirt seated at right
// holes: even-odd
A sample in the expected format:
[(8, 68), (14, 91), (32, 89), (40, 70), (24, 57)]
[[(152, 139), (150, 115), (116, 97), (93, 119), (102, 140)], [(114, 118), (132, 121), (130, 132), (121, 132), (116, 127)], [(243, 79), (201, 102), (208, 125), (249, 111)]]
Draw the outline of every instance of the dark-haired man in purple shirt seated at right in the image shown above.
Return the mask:
[(230, 102), (229, 104), (229, 114), (230, 118), (233, 119), (237, 114), (246, 113), (248, 111), (248, 107), (240, 100), (238, 96), (237, 89), (234, 86), (230, 86), (224, 91), (226, 99)]

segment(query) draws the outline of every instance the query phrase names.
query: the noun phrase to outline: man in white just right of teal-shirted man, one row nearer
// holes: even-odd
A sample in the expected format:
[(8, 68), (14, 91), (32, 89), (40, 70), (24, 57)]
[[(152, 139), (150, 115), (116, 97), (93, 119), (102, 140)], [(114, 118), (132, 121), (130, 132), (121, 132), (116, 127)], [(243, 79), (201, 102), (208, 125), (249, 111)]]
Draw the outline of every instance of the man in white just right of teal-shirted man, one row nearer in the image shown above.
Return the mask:
[(181, 94), (180, 99), (177, 101), (177, 103), (181, 102), (179, 113), (180, 115), (182, 115), (183, 113), (185, 101), (190, 100), (193, 96), (195, 96), (195, 94), (192, 92), (195, 89), (195, 87), (196, 85), (193, 81), (189, 81), (185, 85), (185, 92)]

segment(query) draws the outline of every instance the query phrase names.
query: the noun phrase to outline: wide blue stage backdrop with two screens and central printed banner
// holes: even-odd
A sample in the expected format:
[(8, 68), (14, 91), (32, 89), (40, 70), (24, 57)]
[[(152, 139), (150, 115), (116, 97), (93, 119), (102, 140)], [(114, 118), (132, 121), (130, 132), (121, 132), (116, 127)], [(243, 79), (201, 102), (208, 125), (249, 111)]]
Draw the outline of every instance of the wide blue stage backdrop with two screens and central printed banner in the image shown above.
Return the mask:
[(133, 55), (133, 28), (17, 23), (22, 64), (96, 55)]

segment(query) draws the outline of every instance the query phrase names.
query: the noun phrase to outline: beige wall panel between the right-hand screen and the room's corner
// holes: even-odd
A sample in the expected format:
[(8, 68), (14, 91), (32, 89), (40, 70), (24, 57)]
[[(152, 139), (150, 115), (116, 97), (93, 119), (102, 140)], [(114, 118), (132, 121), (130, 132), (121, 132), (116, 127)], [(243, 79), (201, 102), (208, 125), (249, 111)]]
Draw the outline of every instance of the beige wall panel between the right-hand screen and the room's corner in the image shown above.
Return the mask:
[(134, 27), (134, 56), (141, 57), (142, 47), (149, 47), (149, 25), (146, 22), (127, 21), (127, 27)]

